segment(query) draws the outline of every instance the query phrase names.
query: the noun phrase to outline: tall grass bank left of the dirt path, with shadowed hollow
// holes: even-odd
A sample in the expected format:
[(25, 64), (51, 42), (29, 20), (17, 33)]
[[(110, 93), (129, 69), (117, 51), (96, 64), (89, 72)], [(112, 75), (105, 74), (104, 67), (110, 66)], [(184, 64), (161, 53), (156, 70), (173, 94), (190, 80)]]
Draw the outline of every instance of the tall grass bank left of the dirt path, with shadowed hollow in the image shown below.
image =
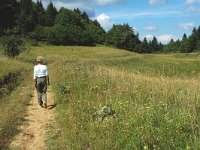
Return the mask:
[(0, 56), (0, 149), (18, 132), (32, 92), (30, 66)]

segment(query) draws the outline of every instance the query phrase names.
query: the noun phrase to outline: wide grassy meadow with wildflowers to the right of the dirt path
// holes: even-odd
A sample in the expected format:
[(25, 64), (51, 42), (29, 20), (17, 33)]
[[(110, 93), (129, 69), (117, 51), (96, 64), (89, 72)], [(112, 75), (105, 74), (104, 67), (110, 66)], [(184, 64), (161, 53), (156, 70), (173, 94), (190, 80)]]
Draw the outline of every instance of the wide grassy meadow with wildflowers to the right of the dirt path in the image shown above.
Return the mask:
[[(48, 149), (200, 149), (200, 53), (38, 46), (16, 61), (32, 73), (37, 55), (49, 67), (57, 103)], [(93, 120), (105, 105), (114, 117)]]

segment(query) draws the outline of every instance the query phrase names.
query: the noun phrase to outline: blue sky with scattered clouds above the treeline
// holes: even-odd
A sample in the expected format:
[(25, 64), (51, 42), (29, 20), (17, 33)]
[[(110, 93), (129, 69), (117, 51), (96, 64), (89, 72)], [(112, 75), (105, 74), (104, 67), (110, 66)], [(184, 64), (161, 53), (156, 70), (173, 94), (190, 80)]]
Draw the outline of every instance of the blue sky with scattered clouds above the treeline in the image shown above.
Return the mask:
[[(36, 1), (36, 0), (34, 0)], [(50, 0), (42, 0), (44, 7)], [(200, 26), (200, 0), (51, 0), (59, 10), (79, 8), (109, 31), (113, 24), (128, 23), (139, 37), (167, 44), (182, 39)]]

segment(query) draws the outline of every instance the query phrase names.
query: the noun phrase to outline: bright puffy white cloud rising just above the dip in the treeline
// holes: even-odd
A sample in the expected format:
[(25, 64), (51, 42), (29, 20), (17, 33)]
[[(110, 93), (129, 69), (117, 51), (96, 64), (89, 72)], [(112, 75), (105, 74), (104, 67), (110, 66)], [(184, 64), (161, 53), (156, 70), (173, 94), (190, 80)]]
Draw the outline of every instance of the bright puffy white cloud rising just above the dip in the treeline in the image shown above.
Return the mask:
[(112, 23), (109, 16), (100, 14), (98, 17), (96, 17), (96, 19), (106, 31), (112, 28)]

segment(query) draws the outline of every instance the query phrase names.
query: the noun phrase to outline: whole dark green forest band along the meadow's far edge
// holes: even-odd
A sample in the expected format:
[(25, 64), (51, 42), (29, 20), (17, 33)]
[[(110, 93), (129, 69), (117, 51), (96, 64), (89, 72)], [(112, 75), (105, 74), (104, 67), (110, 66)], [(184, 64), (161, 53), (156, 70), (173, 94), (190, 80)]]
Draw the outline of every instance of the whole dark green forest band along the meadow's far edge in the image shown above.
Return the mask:
[(155, 36), (150, 41), (146, 38), (141, 41), (139, 33), (127, 23), (114, 24), (106, 32), (97, 20), (90, 19), (79, 8), (57, 10), (52, 2), (44, 8), (41, 0), (1, 0), (0, 37), (3, 45), (11, 47), (21, 46), (23, 38), (31, 40), (33, 45), (38, 42), (51, 45), (102, 44), (138, 53), (188, 53), (200, 50), (200, 26), (194, 28), (190, 36), (183, 34), (181, 40), (172, 39), (164, 45)]

